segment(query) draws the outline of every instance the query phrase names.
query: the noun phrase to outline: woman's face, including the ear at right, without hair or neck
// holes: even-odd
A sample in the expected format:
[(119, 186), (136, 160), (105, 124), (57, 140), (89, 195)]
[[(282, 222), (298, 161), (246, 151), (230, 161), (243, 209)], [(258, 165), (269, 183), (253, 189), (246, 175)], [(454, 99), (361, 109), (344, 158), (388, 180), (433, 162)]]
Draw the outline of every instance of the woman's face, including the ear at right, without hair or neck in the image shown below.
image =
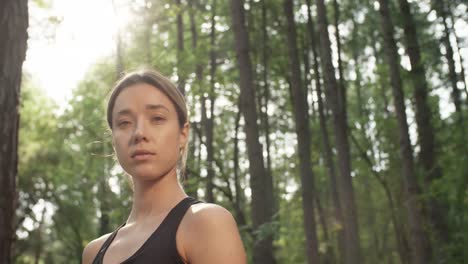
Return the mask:
[(149, 84), (125, 88), (112, 110), (112, 141), (122, 168), (142, 180), (175, 171), (188, 124), (180, 128), (171, 100)]

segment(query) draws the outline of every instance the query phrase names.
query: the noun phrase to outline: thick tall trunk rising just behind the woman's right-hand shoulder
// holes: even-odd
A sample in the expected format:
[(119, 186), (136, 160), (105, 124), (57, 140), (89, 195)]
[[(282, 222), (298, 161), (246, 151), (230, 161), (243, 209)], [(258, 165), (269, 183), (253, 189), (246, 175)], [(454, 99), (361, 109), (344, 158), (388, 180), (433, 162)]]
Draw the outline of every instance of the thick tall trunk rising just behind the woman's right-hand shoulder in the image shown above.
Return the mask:
[[(262, 146), (258, 140), (255, 91), (253, 89), (252, 65), (249, 57), (249, 36), (245, 26), (243, 1), (231, 0), (231, 18), (234, 31), (237, 64), (240, 73), (241, 110), (245, 120), (247, 154), (249, 158), (250, 187), (252, 189), (252, 221), (254, 229), (269, 224), (272, 220), (273, 191), (271, 178), (263, 164)], [(259, 238), (254, 245), (254, 263), (275, 263), (273, 235)]]

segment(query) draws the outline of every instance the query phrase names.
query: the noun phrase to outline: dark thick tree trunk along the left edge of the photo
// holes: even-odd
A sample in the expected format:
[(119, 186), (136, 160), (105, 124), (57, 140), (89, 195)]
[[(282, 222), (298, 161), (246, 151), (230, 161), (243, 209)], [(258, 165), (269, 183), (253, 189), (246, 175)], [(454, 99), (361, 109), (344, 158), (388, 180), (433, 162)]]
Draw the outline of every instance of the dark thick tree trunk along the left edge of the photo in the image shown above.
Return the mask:
[(0, 263), (11, 263), (15, 240), (20, 87), (28, 39), (28, 2), (0, 2)]

